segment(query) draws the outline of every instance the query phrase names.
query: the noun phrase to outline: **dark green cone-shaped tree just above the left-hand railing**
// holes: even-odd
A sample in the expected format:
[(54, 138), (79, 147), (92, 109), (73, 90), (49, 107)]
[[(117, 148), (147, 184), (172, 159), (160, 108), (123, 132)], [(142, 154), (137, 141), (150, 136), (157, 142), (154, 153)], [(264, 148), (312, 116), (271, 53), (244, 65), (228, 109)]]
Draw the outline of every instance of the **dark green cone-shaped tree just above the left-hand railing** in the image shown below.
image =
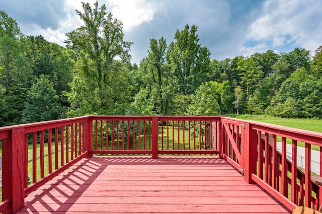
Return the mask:
[(53, 83), (41, 75), (27, 93), (21, 121), (29, 123), (59, 119), (61, 110)]

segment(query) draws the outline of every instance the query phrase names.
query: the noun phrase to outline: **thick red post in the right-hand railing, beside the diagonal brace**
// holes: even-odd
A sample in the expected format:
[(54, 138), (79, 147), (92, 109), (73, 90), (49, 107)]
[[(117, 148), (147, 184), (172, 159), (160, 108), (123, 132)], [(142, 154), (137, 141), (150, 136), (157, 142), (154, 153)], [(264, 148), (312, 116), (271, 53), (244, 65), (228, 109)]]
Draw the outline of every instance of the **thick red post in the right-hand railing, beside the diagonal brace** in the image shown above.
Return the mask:
[[(252, 174), (256, 174), (257, 162), (257, 131), (253, 130), (252, 124), (245, 122), (241, 141), (241, 163), (244, 170), (244, 180), (248, 183), (254, 183)], [(244, 136), (244, 137), (243, 137)]]

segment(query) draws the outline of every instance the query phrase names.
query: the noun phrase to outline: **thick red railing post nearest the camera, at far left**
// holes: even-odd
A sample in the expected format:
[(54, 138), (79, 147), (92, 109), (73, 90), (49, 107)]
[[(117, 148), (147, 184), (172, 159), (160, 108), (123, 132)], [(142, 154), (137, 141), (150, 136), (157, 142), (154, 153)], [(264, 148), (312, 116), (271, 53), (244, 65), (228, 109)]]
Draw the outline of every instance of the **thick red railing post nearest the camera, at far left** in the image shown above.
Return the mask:
[(3, 214), (16, 213), (25, 206), (25, 134), (24, 128), (13, 129), (2, 142), (3, 201), (10, 200), (10, 208)]

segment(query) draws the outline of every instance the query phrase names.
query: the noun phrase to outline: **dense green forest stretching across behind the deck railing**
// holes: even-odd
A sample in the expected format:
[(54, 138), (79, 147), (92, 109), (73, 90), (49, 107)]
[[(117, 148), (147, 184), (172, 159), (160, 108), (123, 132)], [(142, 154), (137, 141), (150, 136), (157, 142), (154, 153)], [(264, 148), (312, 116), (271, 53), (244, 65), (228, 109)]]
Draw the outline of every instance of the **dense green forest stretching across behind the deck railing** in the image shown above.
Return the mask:
[(220, 61), (186, 25), (170, 44), (151, 38), (137, 65), (122, 23), (97, 2), (83, 9), (64, 47), (23, 34), (0, 11), (0, 126), (81, 115), (322, 117), (322, 46)]

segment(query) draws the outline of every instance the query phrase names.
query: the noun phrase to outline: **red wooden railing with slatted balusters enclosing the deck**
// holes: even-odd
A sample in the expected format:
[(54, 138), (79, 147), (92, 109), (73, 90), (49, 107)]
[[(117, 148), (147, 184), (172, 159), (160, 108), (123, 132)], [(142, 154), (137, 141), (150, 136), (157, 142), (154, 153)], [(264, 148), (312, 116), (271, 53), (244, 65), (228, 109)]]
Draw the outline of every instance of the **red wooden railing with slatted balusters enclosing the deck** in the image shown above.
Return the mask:
[[(321, 188), (310, 180), (310, 147), (320, 148), (321, 163), (322, 133), (219, 116), (84, 116), (2, 127), (0, 139), (0, 213), (19, 211), (30, 192), (93, 155), (220, 155), (290, 209), (321, 204)], [(305, 142), (305, 170), (296, 166), (297, 141)]]

